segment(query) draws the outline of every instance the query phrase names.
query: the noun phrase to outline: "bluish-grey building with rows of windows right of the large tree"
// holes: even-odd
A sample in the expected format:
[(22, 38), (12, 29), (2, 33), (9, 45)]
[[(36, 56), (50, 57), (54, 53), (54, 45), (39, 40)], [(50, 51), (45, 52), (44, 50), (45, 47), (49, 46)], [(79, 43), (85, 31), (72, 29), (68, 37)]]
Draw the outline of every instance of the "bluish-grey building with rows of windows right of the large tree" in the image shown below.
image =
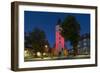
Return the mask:
[(90, 55), (90, 34), (86, 33), (80, 37), (78, 43), (78, 54)]

